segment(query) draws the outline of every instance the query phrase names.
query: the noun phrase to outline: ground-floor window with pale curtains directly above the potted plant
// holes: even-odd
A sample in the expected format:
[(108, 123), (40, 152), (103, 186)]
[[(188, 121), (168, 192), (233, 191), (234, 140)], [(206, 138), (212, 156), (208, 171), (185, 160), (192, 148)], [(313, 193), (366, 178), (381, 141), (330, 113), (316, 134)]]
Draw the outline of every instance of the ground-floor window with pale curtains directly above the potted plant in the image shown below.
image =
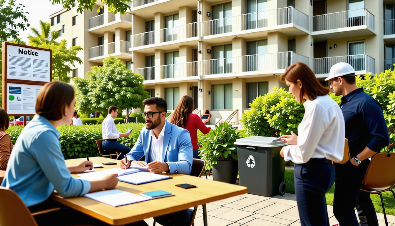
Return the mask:
[(230, 110), (233, 107), (232, 84), (213, 85), (211, 97), (213, 99), (213, 110)]

